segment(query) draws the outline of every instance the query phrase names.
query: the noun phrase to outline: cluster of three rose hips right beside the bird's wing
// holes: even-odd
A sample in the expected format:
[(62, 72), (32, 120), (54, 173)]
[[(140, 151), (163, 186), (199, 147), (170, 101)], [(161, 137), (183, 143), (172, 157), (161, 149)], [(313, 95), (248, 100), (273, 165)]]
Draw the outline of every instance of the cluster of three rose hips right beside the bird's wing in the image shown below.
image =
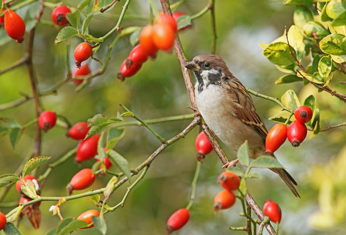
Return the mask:
[(265, 150), (272, 155), (288, 138), (293, 147), (298, 147), (307, 135), (305, 123), (312, 119), (312, 110), (308, 106), (300, 106), (294, 111), (295, 121), (287, 128), (285, 124), (274, 125), (267, 134)]

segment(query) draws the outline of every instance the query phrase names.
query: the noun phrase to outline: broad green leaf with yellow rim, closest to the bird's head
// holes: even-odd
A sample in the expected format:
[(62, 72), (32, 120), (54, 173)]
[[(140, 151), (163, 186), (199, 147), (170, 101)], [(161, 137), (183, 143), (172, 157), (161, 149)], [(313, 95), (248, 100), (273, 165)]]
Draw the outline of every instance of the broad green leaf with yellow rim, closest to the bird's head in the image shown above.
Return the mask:
[[(292, 46), (291, 50), (295, 54)], [(283, 42), (270, 44), (266, 49), (264, 49), (263, 54), (270, 62), (277, 65), (290, 65), (296, 62), (293, 56), (290, 54), (289, 45)]]

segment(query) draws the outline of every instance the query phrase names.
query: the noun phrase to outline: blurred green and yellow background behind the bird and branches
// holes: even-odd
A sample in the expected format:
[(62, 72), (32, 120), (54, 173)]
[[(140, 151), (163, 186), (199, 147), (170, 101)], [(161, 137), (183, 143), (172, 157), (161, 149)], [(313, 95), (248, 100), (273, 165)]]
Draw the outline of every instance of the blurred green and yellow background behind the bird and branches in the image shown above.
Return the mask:
[[(76, 6), (78, 2), (78, 0), (64, 1), (64, 4)], [(160, 7), (160, 2), (155, 2)], [(178, 10), (193, 15), (207, 3), (207, 0), (186, 0)], [(124, 1), (120, 1), (114, 8), (106, 11), (104, 15), (109, 18), (107, 20), (95, 15), (89, 25), (90, 34), (100, 37), (109, 32), (116, 25), (118, 18), (115, 15), (120, 14), (123, 4)], [(317, 98), (317, 107), (321, 110), (322, 127), (344, 122), (345, 104), (336, 97), (331, 97), (325, 92), (318, 93), (312, 85), (303, 86), (302, 82), (274, 84), (274, 81), (284, 74), (263, 56), (263, 50), (257, 43), (270, 43), (281, 36), (284, 26), (289, 28), (293, 24), (293, 11), (294, 6), (284, 6), (282, 1), (216, 0), (217, 54), (226, 61), (230, 71), (245, 86), (262, 94), (279, 98), (287, 89), (293, 89), (301, 103), (307, 96), (313, 94)], [(148, 1), (131, 1), (126, 15), (140, 15), (148, 18)], [(51, 9), (45, 9), (43, 19), (51, 19)], [(123, 27), (146, 24), (148, 20), (122, 22)], [(47, 25), (39, 24), (36, 29), (33, 60), (40, 90), (53, 87), (66, 76), (66, 46), (64, 43), (54, 46), (57, 33), (56, 29)], [(107, 52), (107, 44), (110, 44), (115, 36), (116, 33), (113, 33), (106, 42), (102, 43), (95, 57), (103, 60)], [(192, 27), (180, 32), (179, 36), (190, 60), (196, 55), (210, 53), (209, 12), (194, 20)], [(17, 44), (12, 40), (1, 46), (1, 69), (21, 58), (25, 42)], [(74, 37), (69, 42), (70, 57), (73, 58), (74, 48), (82, 41)], [(192, 113), (185, 107), (190, 106), (190, 101), (174, 52), (172, 54), (159, 52), (155, 61), (147, 61), (134, 77), (120, 83), (116, 73), (131, 49), (129, 37), (121, 38), (113, 47), (107, 71), (102, 76), (92, 79), (79, 93), (74, 93), (75, 86), (69, 82), (58, 90), (56, 96), (41, 97), (44, 108), (65, 115), (73, 124), (86, 121), (98, 113), (105, 114), (107, 117), (116, 116), (118, 111), (123, 112), (118, 103), (124, 103), (142, 119)], [(309, 63), (309, 56), (304, 59), (305, 64)], [(73, 59), (70, 60), (71, 66), (74, 67)], [(91, 59), (88, 62), (93, 71), (100, 67), (98, 62)], [(337, 81), (345, 80), (344, 76), (335, 74), (334, 82), (330, 85), (332, 89), (337, 89), (343, 94), (346, 85), (338, 85)], [(195, 81), (194, 76), (193, 81)], [(0, 103), (7, 103), (21, 97), (20, 92), (31, 93), (25, 66), (0, 76)], [(261, 98), (253, 97), (253, 99), (267, 129), (270, 129), (275, 123), (267, 119), (278, 113), (280, 107)], [(23, 125), (35, 118), (33, 101), (1, 111), (0, 116), (11, 117)], [(174, 121), (153, 124), (152, 127), (163, 138), (170, 139), (181, 132), (189, 122), (190, 120)], [(8, 136), (0, 139), (0, 175), (13, 173), (22, 159), (30, 153), (34, 129), (32, 125), (25, 130), (15, 151), (12, 150)], [(77, 141), (66, 138), (65, 132), (66, 130), (55, 127), (43, 133), (42, 156), (52, 156), (48, 163), (60, 158), (78, 144)], [(277, 158), (298, 182), (301, 199), (295, 198), (275, 173), (268, 169), (255, 169), (255, 172), (260, 173), (263, 179), (249, 179), (248, 190), (260, 207), (267, 199), (279, 203), (282, 209), (280, 234), (345, 234), (345, 209), (340, 208), (346, 208), (346, 164), (330, 162), (345, 145), (345, 133), (345, 127), (321, 132), (311, 140), (307, 138), (299, 148), (293, 148), (286, 141), (277, 151)], [(185, 207), (190, 198), (191, 181), (196, 166), (194, 140), (197, 134), (198, 129), (195, 128), (185, 139), (165, 149), (154, 160), (145, 178), (131, 191), (124, 208), (120, 207), (105, 216), (108, 234), (164, 234), (164, 226), (169, 216), (177, 209)], [(131, 168), (135, 168), (159, 146), (160, 142), (146, 128), (127, 127), (125, 137), (118, 142), (115, 150), (129, 161)], [(224, 147), (224, 150), (230, 159), (236, 158), (235, 152), (227, 147)], [(339, 158), (346, 158), (346, 151), (344, 150), (339, 156)], [(65, 187), (71, 177), (80, 169), (91, 167), (93, 162), (83, 162), (79, 166), (71, 158), (65, 164), (58, 166), (47, 179), (41, 195), (45, 197), (67, 195)], [(45, 171), (48, 163), (38, 169), (37, 176)], [(222, 190), (217, 183), (217, 177), (223, 171), (221, 166), (222, 163), (215, 152), (204, 159), (197, 183), (195, 202), (191, 208), (190, 221), (175, 234), (245, 234), (229, 230), (230, 226), (246, 225), (245, 218), (238, 215), (242, 212), (239, 201), (233, 208), (221, 211), (217, 215), (212, 210), (213, 198)], [(330, 176), (333, 172), (336, 173)], [(98, 177), (92, 189), (104, 187), (110, 177), (109, 175)], [(332, 200), (333, 193), (325, 193), (327, 196), (319, 194), (319, 190), (323, 188), (321, 181), (328, 177), (331, 182), (334, 180), (335, 184), (343, 186), (335, 189), (338, 195), (341, 195), (340, 200), (343, 203), (335, 204)], [(331, 184), (326, 183), (329, 186)], [(108, 204), (110, 206), (118, 204), (128, 186), (129, 183), (126, 182), (117, 189)], [(332, 188), (331, 191), (334, 192), (334, 189)], [(19, 198), (19, 194), (12, 187), (4, 201), (10, 202)], [(327, 205), (326, 214), (323, 203), (328, 200), (331, 201), (331, 205), (329, 207)], [(46, 234), (49, 229), (55, 227), (60, 219), (58, 216), (52, 217), (52, 213), (48, 211), (53, 204), (55, 202), (42, 202), (40, 206), (42, 223), (38, 230), (34, 230), (29, 220), (24, 217), (19, 224), (21, 232), (24, 235)], [(341, 212), (333, 209), (336, 205), (336, 208), (340, 207), (338, 210)], [(1, 208), (1, 211), (7, 213), (10, 209)], [(88, 198), (81, 198), (64, 203), (61, 213), (63, 217), (78, 217), (82, 212), (90, 209), (97, 208)], [(323, 215), (317, 215), (322, 216), (317, 219), (313, 217), (312, 215), (317, 211), (322, 211), (325, 217)], [(337, 216), (337, 220), (333, 220), (333, 216)], [(317, 229), (316, 223), (325, 222), (329, 225), (334, 223), (333, 221), (337, 222), (329, 226), (332, 227), (329, 230)], [(100, 233), (96, 228), (91, 228), (86, 229), (86, 232), (76, 231), (74, 234)], [(264, 231), (263, 234), (267, 232)]]

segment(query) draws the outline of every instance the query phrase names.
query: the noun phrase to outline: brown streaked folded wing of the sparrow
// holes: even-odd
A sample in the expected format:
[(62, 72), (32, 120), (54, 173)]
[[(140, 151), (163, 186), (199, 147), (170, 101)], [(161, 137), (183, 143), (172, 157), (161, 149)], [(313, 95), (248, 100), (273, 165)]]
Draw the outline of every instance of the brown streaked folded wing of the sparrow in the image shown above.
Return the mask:
[(243, 84), (234, 76), (227, 78), (222, 84), (226, 89), (230, 98), (235, 104), (232, 104), (235, 109), (235, 114), (247, 125), (254, 128), (264, 139), (267, 137), (267, 129), (258, 115), (254, 102), (251, 96), (245, 90)]

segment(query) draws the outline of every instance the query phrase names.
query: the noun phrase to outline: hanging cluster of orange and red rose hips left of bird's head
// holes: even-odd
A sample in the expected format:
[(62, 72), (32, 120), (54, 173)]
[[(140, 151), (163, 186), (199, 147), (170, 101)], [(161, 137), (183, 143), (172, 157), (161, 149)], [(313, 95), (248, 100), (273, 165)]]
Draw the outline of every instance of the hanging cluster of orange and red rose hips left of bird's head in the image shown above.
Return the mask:
[(155, 24), (143, 28), (139, 36), (139, 45), (135, 46), (128, 58), (122, 62), (117, 78), (134, 76), (148, 58), (155, 58), (158, 50), (170, 51), (177, 31), (175, 19), (167, 14), (160, 13)]

